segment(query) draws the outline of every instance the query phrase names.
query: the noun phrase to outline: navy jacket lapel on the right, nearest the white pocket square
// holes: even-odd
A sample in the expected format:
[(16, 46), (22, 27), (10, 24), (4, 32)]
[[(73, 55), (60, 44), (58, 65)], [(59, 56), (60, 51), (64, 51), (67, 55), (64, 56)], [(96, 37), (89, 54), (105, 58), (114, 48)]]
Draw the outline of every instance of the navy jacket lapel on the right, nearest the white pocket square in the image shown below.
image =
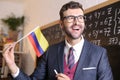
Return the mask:
[(78, 61), (78, 65), (77, 65), (77, 68), (76, 68), (76, 72), (75, 72), (75, 75), (74, 75), (74, 79), (73, 80), (80, 80), (80, 78), (78, 78), (80, 76), (80, 73), (82, 71), (82, 65), (85, 61), (85, 59), (87, 58), (87, 54), (89, 52), (89, 48), (90, 48), (90, 45), (89, 43), (85, 40), (84, 42), (84, 45), (83, 45), (83, 49), (82, 49), (82, 52), (81, 52), (81, 56), (79, 58), (79, 61)]

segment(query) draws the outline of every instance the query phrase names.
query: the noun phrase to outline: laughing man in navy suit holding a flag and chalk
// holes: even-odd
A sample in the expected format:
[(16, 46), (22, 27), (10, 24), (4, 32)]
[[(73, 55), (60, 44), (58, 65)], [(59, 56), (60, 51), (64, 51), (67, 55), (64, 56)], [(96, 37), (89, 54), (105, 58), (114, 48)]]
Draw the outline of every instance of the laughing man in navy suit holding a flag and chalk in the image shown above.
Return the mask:
[(82, 36), (85, 29), (82, 5), (74, 1), (63, 5), (60, 10), (60, 24), (65, 32), (65, 41), (48, 48), (30, 77), (15, 64), (15, 44), (4, 50), (3, 57), (14, 79), (113, 80), (106, 50), (89, 43)]

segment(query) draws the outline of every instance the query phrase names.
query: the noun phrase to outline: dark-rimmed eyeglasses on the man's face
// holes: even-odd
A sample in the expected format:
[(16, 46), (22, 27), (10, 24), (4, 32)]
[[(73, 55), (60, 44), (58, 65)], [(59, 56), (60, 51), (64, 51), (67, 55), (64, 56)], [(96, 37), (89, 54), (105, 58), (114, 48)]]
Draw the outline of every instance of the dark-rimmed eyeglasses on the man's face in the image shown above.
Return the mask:
[(65, 17), (63, 17), (63, 19), (65, 19), (69, 23), (74, 22), (76, 19), (79, 22), (81, 22), (81, 23), (84, 22), (84, 16), (83, 15), (79, 15), (79, 16), (65, 16)]

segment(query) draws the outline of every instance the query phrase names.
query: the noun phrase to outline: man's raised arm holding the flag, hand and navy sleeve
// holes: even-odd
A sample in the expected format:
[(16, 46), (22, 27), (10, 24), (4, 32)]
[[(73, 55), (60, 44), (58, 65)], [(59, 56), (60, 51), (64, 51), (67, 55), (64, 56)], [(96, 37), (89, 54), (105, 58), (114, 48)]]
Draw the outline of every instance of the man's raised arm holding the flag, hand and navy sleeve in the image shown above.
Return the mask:
[(45, 69), (43, 69), (43, 68), (45, 68), (44, 67), (45, 61), (43, 59), (41, 60), (40, 65), (42, 65), (43, 67), (38, 66), (39, 72), (36, 69), (32, 76), (28, 76), (23, 71), (21, 71), (15, 63), (15, 59), (14, 59), (15, 45), (16, 45), (16, 43), (12, 43), (3, 50), (3, 58), (5, 59), (6, 64), (7, 64), (8, 68), (10, 69), (12, 76), (15, 75), (15, 76), (13, 76), (14, 80), (38, 80), (38, 77), (42, 78), (42, 80), (43, 80), (44, 77), (40, 76), (40, 74), (44, 75), (44, 73), (42, 73), (42, 71), (45, 70)]

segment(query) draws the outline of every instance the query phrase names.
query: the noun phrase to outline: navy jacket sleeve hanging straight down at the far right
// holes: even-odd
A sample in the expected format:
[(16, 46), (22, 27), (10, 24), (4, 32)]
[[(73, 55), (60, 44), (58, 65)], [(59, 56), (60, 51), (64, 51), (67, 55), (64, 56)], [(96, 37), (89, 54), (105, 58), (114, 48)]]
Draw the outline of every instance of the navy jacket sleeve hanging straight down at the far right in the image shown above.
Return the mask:
[(107, 57), (106, 49), (103, 49), (101, 59), (98, 64), (98, 80), (113, 80), (111, 67)]

